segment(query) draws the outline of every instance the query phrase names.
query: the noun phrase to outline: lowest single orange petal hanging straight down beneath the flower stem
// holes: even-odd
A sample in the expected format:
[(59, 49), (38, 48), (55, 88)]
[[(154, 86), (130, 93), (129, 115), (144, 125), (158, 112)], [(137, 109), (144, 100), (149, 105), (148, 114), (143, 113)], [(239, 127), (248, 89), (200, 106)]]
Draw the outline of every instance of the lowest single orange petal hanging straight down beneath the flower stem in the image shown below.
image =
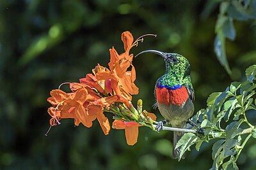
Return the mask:
[(137, 142), (139, 134), (138, 126), (126, 126), (125, 138), (128, 145), (134, 145)]

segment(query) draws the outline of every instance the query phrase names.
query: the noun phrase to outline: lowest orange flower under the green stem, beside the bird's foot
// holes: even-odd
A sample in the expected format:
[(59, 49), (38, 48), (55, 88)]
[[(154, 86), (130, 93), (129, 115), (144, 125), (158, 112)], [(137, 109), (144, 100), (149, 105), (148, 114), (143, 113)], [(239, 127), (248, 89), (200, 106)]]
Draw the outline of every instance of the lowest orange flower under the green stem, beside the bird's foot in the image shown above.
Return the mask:
[[(154, 113), (148, 113), (148, 117), (152, 118), (152, 120), (156, 120)], [(125, 138), (128, 145), (137, 143), (140, 126), (142, 125), (137, 122), (124, 122), (122, 120), (115, 120), (112, 124), (113, 129), (125, 130)]]

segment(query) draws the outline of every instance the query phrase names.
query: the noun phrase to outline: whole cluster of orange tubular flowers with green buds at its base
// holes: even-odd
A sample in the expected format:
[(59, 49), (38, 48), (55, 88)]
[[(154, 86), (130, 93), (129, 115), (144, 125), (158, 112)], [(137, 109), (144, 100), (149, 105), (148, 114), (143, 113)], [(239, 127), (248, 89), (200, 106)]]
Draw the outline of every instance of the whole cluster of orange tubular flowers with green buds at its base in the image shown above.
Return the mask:
[[(56, 89), (51, 91), (47, 99), (52, 107), (51, 127), (60, 124), (61, 118), (74, 118), (75, 125), (83, 124), (92, 127), (93, 120), (99, 121), (104, 134), (109, 134), (110, 125), (106, 112), (113, 113), (113, 129), (125, 129), (128, 145), (134, 145), (138, 138), (138, 127), (152, 125), (156, 116), (142, 111), (142, 101), (138, 101), (138, 109), (132, 105), (132, 95), (138, 94), (134, 84), (136, 71), (132, 65), (133, 55), (129, 54), (132, 46), (138, 45), (143, 38), (134, 41), (131, 32), (122, 33), (125, 52), (118, 54), (115, 48), (109, 49), (109, 69), (98, 64), (92, 74), (86, 74), (79, 83), (68, 83), (70, 92)], [(131, 70), (128, 70), (131, 67)]]

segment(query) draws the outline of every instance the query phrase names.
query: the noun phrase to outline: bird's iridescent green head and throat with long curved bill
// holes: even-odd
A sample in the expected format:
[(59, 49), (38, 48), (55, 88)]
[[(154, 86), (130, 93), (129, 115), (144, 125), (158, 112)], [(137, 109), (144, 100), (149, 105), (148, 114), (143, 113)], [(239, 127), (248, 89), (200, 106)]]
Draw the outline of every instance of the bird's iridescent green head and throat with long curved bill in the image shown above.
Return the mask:
[(157, 80), (157, 84), (171, 87), (175, 85), (188, 85), (193, 88), (191, 85), (190, 64), (188, 59), (178, 53), (166, 53), (157, 50), (145, 50), (138, 53), (138, 55), (146, 52), (156, 53), (164, 58), (166, 72)]

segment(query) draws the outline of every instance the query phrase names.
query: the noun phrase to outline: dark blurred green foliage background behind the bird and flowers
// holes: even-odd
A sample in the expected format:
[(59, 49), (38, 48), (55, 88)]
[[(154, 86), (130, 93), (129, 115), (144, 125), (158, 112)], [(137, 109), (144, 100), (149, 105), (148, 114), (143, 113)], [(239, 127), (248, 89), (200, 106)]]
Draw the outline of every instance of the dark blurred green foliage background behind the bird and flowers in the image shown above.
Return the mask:
[[(236, 40), (226, 42), (231, 76), (214, 54), (218, 1), (0, 1), (0, 169), (209, 169), (212, 144), (191, 148), (185, 160), (173, 160), (172, 133), (140, 127), (138, 143), (127, 146), (123, 130), (104, 136), (97, 120), (88, 129), (61, 120), (48, 137), (46, 99), (66, 81), (78, 81), (100, 63), (108, 66), (109, 48), (124, 52), (121, 34), (146, 37), (131, 53), (155, 49), (186, 56), (195, 88), (195, 110), (212, 92), (243, 81), (256, 63), (256, 22), (234, 22)], [(161, 57), (133, 61), (143, 107), (152, 109), (154, 85), (164, 73)], [(64, 89), (67, 87), (64, 87)], [(107, 113), (111, 118), (110, 113)], [(255, 119), (255, 115), (251, 117)], [(240, 169), (256, 168), (256, 144), (249, 141)]]

